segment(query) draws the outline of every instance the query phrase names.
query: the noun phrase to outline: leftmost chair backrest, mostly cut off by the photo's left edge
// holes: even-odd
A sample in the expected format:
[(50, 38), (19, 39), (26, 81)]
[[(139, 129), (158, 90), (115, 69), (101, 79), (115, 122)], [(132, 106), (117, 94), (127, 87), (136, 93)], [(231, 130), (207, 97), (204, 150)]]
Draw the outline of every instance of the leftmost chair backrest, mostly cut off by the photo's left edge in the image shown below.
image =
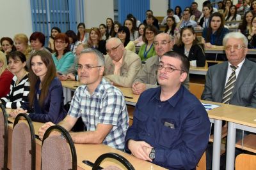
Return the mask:
[(0, 169), (7, 169), (8, 120), (3, 104), (0, 104)]

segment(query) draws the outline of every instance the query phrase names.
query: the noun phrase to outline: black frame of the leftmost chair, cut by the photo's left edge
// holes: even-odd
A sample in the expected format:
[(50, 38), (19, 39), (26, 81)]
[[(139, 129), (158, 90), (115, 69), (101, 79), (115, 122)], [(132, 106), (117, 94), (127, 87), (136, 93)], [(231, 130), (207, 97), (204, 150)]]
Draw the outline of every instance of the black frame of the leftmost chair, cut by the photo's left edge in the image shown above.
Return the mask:
[[(1, 110), (3, 111), (4, 116), (4, 165), (3, 169), (7, 169), (8, 163), (8, 115), (3, 104), (0, 104)], [(0, 137), (1, 138), (1, 137)]]

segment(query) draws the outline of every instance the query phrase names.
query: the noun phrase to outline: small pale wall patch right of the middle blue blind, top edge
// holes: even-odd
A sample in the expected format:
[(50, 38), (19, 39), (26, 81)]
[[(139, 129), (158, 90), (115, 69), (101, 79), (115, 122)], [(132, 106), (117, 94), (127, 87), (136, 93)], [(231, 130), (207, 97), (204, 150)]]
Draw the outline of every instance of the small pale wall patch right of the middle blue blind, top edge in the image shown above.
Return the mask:
[(168, 0), (150, 0), (150, 10), (153, 11), (154, 16), (156, 17), (166, 16), (166, 11), (168, 10)]

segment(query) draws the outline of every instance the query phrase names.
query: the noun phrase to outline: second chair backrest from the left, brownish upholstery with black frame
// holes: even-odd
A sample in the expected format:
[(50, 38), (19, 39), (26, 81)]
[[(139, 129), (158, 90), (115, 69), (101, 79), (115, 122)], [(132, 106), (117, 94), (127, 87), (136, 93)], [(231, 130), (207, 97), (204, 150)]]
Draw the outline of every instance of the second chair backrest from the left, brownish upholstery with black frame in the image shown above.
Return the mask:
[[(19, 122), (24, 117), (25, 122)], [(12, 169), (35, 169), (35, 131), (26, 113), (20, 113), (14, 120), (12, 133)]]

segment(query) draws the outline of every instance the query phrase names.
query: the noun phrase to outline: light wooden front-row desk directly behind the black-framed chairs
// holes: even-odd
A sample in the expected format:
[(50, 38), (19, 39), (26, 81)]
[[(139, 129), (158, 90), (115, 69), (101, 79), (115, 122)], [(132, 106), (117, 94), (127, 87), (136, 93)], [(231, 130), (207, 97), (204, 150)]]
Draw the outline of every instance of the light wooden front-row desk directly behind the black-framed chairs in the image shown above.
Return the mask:
[[(7, 110), (10, 113), (11, 110)], [(14, 122), (14, 118), (8, 118), (10, 122)], [(24, 121), (24, 120), (20, 120)], [(43, 125), (40, 122), (33, 122), (35, 134), (38, 134), (38, 129)], [(13, 124), (8, 124), (8, 168), (12, 169), (12, 132), (13, 132)], [(87, 166), (82, 161), (83, 160), (90, 160), (91, 162), (95, 162), (95, 160), (102, 155), (103, 153), (114, 152), (122, 155), (125, 157), (129, 162), (131, 162), (132, 166), (135, 169), (164, 169), (163, 167), (156, 166), (147, 161), (143, 161), (133, 157), (127, 153), (121, 152), (120, 150), (116, 150), (111, 148), (107, 145), (82, 145), (82, 144), (75, 144), (76, 152), (77, 152), (77, 169), (92, 169), (92, 167)], [(41, 149), (42, 149), (42, 141), (40, 139), (36, 139), (36, 169), (41, 169)], [(115, 162), (116, 163), (116, 162)], [(115, 164), (114, 163), (114, 164)], [(117, 162), (118, 163), (118, 162)], [(113, 160), (106, 159), (100, 166), (106, 167), (109, 165), (113, 165)], [(120, 166), (120, 163), (118, 163)]]

